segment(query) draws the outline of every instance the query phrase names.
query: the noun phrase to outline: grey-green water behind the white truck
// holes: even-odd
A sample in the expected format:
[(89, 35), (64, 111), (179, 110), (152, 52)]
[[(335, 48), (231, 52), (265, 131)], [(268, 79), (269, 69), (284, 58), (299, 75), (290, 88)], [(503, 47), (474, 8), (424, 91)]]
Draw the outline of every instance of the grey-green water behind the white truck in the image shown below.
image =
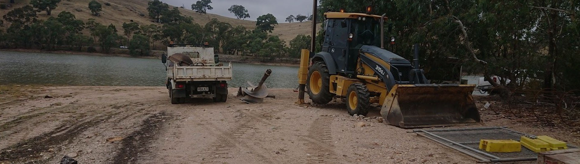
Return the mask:
[[(258, 83), (267, 69), (269, 88), (296, 88), (298, 67), (232, 63), (230, 87)], [(0, 51), (0, 85), (165, 86), (161, 59)]]

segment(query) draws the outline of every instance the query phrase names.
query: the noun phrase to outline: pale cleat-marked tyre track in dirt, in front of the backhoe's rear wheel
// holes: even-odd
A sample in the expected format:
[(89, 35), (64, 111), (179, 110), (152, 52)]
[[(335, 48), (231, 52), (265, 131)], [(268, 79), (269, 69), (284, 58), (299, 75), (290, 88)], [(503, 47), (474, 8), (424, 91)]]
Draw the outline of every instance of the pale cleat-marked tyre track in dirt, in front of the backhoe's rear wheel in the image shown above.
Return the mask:
[(302, 137), (306, 141), (306, 163), (335, 163), (336, 153), (332, 145), (332, 118), (321, 116), (314, 120), (308, 129), (308, 135)]

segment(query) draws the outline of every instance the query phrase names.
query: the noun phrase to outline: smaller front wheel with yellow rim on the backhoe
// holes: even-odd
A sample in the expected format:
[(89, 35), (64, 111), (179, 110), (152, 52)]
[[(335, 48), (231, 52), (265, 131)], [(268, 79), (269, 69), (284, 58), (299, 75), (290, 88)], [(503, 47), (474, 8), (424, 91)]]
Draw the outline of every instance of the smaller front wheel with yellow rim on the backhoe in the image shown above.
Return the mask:
[(367, 115), (368, 107), (371, 105), (367, 86), (363, 83), (353, 83), (346, 93), (346, 108), (349, 114)]

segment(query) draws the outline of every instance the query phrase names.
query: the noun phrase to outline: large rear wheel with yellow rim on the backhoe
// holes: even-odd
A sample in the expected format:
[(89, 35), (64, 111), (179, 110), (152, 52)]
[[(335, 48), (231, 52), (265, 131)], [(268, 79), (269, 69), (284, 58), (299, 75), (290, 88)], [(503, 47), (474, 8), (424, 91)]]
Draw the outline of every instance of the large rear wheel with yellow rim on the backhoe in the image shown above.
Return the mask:
[(330, 74), (324, 62), (318, 61), (310, 67), (306, 81), (308, 96), (313, 103), (327, 104), (332, 101), (335, 94), (330, 93)]

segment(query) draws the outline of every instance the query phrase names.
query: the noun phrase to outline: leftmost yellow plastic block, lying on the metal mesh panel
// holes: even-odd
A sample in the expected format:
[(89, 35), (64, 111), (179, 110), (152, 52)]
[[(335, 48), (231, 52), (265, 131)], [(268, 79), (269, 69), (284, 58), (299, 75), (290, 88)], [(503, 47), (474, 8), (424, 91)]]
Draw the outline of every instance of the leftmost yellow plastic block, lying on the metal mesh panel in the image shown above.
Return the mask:
[(488, 152), (520, 152), (521, 144), (514, 140), (480, 140), (479, 149)]

